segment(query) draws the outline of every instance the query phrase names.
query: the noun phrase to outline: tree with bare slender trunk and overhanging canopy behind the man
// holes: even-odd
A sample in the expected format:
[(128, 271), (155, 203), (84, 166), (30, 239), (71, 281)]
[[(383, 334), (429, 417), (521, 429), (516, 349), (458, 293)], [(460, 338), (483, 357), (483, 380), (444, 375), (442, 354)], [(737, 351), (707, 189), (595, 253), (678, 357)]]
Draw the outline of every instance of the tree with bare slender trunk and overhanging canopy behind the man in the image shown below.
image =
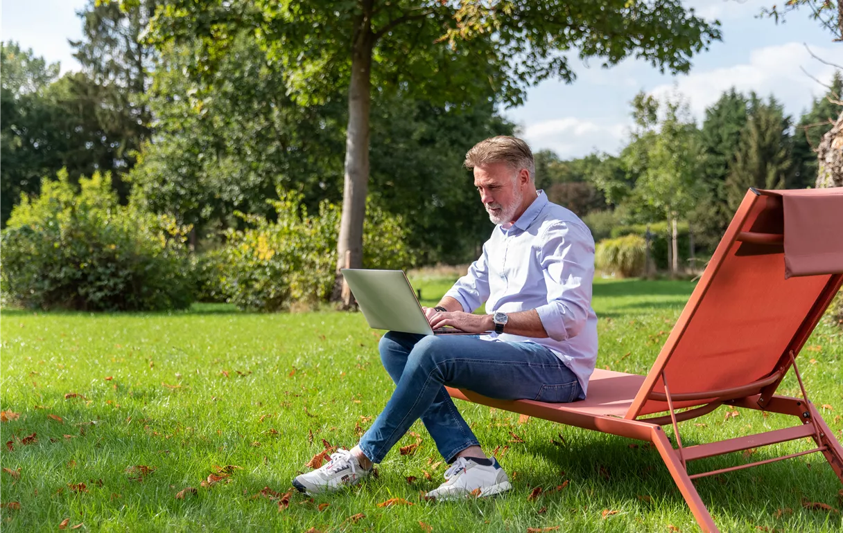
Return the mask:
[(573, 80), (565, 55), (572, 48), (605, 66), (634, 55), (662, 70), (685, 72), (695, 52), (719, 39), (717, 25), (679, 0), (169, 0), (153, 18), (150, 35), (158, 46), (199, 38), (205, 45), (199, 68), (209, 69), (237, 29), (246, 27), (285, 67), (287, 88), (298, 102), (347, 88), (340, 267), (346, 252), (352, 266), (362, 260), (373, 88), (440, 104), (470, 103), (492, 88), (517, 104), (530, 82)]

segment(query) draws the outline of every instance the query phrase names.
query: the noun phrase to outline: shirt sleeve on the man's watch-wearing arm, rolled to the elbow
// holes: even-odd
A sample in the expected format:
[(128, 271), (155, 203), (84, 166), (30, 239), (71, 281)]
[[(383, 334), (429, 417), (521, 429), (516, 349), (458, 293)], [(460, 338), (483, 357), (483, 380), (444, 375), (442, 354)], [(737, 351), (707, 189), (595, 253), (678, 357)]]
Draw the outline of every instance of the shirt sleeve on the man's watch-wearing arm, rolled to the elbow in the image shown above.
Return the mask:
[(594, 240), (588, 229), (557, 222), (540, 239), (539, 260), (547, 285), (547, 304), (536, 308), (550, 338), (563, 341), (588, 321), (594, 277)]

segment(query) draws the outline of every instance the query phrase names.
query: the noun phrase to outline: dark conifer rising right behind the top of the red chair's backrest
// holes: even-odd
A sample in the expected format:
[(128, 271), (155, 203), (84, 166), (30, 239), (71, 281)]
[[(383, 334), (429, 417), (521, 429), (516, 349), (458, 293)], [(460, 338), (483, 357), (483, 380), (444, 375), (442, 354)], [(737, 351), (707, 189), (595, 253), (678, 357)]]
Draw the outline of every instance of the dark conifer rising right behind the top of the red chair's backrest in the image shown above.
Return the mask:
[(741, 131), (738, 150), (726, 179), (729, 208), (734, 212), (746, 189), (783, 189), (792, 176), (791, 120), (781, 104), (770, 97), (768, 103), (754, 93), (749, 99), (746, 125)]

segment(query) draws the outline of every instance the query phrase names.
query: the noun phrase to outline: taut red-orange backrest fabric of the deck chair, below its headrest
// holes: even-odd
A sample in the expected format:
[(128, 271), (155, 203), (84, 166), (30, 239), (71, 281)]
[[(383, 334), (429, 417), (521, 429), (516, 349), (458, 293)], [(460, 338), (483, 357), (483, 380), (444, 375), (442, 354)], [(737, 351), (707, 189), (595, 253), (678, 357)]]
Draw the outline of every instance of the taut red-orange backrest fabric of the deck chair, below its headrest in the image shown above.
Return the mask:
[(626, 418), (668, 410), (648, 398), (664, 392), (662, 371), (671, 395), (717, 391), (771, 376), (783, 356), (802, 348), (843, 276), (786, 279), (782, 192), (750, 189), (744, 197)]

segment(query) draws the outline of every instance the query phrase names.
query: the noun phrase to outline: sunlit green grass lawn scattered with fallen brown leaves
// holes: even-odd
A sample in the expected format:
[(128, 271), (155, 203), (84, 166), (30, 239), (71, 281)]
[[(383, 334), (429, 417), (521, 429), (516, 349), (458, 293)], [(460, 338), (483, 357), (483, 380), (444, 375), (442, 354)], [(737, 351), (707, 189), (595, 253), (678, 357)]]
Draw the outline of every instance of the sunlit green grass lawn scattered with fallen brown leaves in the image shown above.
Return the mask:
[[(453, 280), (413, 281), (432, 305)], [(600, 280), (593, 303), (599, 367), (647, 372), (692, 289), (687, 281)], [(485, 449), (508, 446), (500, 457), (513, 481), (507, 496), (422, 501), (419, 493), (443, 481), (445, 466), (416, 424), (422, 437), (416, 454), (393, 450), (379, 478), (313, 500), (293, 493), (279, 510), (261, 489), (290, 490), (323, 439), (354, 445), (389, 398), (380, 333), (361, 314), (343, 312), (260, 315), (229, 306), (173, 314), (0, 312), (0, 410), (19, 413), (0, 422), (0, 442), (12, 448), (3, 445), (0, 466), (15, 474), (0, 472), (0, 504), (19, 503), (0, 509), (0, 530), (56, 530), (65, 519), (67, 528), (81, 523), (79, 530), (100, 531), (421, 532), (420, 521), (432, 531), (698, 530), (655, 450), (535, 418), (518, 424), (517, 414), (464, 402), (458, 407)], [(808, 349), (800, 358), (804, 380), (814, 403), (831, 406), (824, 416), (840, 437), (840, 329), (825, 319)], [(781, 390), (797, 391), (792, 377)], [(724, 419), (725, 412), (682, 424), (683, 442), (789, 423), (747, 412)], [(510, 432), (524, 443), (511, 442)], [(399, 445), (411, 442), (408, 435)], [(767, 456), (760, 449), (751, 460)], [(690, 468), (744, 461), (738, 453)], [(215, 466), (228, 465), (239, 469), (201, 486)], [(819, 455), (707, 477), (696, 486), (723, 531), (843, 529), (840, 514), (802, 505), (803, 498), (843, 505), (843, 486)], [(196, 493), (176, 498), (189, 487)], [(545, 493), (530, 500), (536, 487)], [(378, 507), (389, 498), (413, 505)], [(617, 513), (604, 518), (604, 509)], [(364, 516), (350, 518), (358, 514)]]

